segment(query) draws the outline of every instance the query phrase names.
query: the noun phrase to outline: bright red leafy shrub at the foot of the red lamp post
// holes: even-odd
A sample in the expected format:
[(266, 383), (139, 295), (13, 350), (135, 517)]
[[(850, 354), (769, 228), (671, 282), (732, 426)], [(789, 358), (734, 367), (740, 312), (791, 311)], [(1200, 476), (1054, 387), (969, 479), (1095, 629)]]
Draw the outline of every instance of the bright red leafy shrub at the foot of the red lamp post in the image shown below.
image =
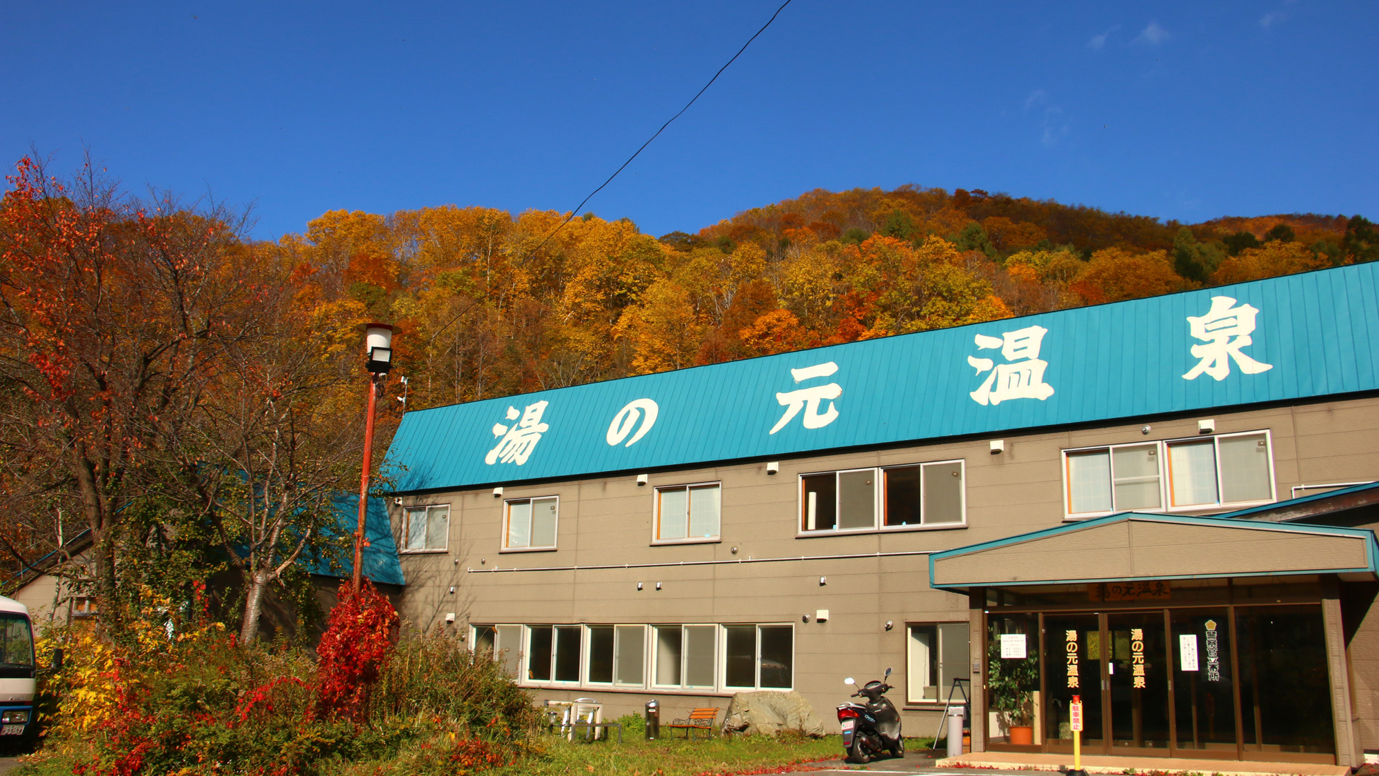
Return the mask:
[(341, 584), (339, 603), (316, 648), (316, 717), (363, 722), (397, 638), (397, 610), (364, 580), (359, 591)]

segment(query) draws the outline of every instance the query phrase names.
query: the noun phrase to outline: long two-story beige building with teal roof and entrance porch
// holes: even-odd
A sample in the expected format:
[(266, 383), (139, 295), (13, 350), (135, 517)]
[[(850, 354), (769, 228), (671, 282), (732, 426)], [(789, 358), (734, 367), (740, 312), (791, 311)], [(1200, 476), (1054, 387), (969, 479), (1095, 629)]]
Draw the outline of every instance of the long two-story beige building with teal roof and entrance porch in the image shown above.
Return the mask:
[(1376, 345), (1360, 265), (411, 411), (403, 613), (612, 714), (889, 666), (976, 751), (1356, 764)]

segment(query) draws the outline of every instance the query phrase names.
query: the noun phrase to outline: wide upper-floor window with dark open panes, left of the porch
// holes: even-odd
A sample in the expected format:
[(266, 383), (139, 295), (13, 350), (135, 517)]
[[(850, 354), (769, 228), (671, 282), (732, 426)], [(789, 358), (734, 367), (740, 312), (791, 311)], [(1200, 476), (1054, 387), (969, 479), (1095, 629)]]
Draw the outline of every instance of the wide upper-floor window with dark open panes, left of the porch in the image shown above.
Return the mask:
[(807, 474), (800, 478), (803, 533), (961, 526), (963, 461)]

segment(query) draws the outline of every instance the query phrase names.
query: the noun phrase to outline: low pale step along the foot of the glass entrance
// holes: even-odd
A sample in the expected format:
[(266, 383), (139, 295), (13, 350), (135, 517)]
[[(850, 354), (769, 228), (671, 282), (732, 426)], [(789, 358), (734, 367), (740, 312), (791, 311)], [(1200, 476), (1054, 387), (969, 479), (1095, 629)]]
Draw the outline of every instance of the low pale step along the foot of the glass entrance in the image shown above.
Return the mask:
[[(947, 757), (934, 762), (935, 768), (980, 768), (1000, 770), (1067, 770), (1073, 766), (1070, 754), (1041, 754), (1019, 751), (980, 751), (963, 757)], [(1088, 773), (1138, 773), (1204, 776), (1346, 776), (1343, 765), (1313, 762), (1252, 762), (1241, 759), (1189, 759), (1180, 757), (1110, 757), (1084, 755), (1083, 770)]]

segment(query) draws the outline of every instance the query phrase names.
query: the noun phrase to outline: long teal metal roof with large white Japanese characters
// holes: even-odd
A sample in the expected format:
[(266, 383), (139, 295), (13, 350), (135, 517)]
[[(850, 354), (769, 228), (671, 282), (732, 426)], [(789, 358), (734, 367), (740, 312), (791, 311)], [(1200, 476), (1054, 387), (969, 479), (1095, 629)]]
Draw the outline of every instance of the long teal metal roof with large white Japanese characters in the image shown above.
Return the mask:
[(1379, 265), (404, 416), (399, 492), (774, 458), (1379, 388)]

